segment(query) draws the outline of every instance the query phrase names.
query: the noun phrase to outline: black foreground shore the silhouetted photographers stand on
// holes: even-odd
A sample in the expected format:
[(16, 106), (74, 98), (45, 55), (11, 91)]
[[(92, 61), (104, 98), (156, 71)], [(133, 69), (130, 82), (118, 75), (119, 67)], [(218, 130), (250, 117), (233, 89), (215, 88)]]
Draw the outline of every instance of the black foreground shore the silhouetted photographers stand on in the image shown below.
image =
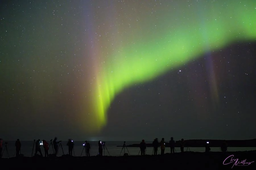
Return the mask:
[[(233, 155), (233, 156), (232, 156)], [(233, 160), (231, 159), (233, 158)], [(238, 152), (179, 152), (145, 156), (63, 155), (49, 158), (1, 158), (3, 169), (255, 169), (256, 150)], [(226, 164), (226, 165), (224, 165)], [(232, 167), (233, 166), (233, 167)]]

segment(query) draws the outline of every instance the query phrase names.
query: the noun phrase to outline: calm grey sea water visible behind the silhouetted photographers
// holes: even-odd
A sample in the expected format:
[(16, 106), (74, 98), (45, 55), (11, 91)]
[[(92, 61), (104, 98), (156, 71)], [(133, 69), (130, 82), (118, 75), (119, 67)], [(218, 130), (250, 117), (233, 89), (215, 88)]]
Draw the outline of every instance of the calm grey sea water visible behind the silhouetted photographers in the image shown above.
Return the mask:
[[(50, 141), (47, 141), (50, 144)], [(141, 141), (126, 141), (126, 145), (139, 144)], [(145, 141), (147, 143), (147, 141)], [(74, 152), (75, 156), (85, 156), (85, 150), (83, 146), (84, 141), (74, 141)], [(89, 141), (91, 149), (90, 156), (96, 156), (98, 154), (98, 141)], [(152, 143), (152, 141), (148, 141), (148, 143)], [(34, 156), (35, 154), (35, 146), (33, 149), (34, 141), (21, 141), (21, 154), (26, 157)], [(123, 147), (123, 141), (106, 141), (105, 149), (103, 150), (103, 155), (105, 156), (123, 156), (124, 153), (128, 153), (129, 155), (138, 155), (141, 154), (139, 147)], [(68, 146), (67, 141), (61, 142), (64, 154), (68, 154)], [(6, 149), (7, 148), (7, 149)], [(33, 152), (32, 152), (33, 150)], [(228, 151), (247, 151), (247, 150), (256, 150), (256, 147), (228, 147)], [(9, 141), (6, 145), (3, 142), (3, 156), (2, 158), (7, 158), (7, 151), (9, 157), (15, 156), (15, 141)], [(41, 146), (41, 151), (44, 156), (44, 148)], [(180, 152), (180, 148), (175, 148), (176, 152)], [(204, 147), (185, 147), (184, 151), (192, 151), (192, 152), (205, 152)], [(211, 152), (220, 152), (220, 147), (211, 147)], [(63, 155), (61, 147), (59, 147), (57, 156)], [(53, 148), (50, 146), (49, 154), (53, 154)], [(164, 153), (170, 153), (170, 148), (166, 147)], [(39, 152), (37, 153), (39, 154)], [(146, 148), (146, 154), (152, 155), (153, 148)], [(160, 154), (160, 148), (158, 148), (158, 154)]]

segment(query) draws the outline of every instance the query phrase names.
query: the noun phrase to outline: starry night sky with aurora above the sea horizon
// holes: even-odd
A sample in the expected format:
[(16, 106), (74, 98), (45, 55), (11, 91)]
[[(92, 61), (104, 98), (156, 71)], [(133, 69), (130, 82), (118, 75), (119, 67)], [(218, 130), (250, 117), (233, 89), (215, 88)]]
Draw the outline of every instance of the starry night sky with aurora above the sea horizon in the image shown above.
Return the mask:
[(256, 1), (0, 7), (0, 138), (256, 138)]

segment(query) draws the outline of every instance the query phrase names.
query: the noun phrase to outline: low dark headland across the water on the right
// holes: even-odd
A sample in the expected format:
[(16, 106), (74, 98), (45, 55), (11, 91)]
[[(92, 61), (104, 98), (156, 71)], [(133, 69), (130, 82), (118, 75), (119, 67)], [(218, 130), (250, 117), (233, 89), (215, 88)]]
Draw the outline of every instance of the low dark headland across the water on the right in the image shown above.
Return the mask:
[[(205, 139), (192, 139), (184, 140), (185, 147), (205, 147), (205, 143), (209, 142), (210, 147), (220, 147), (223, 140), (205, 140)], [(153, 141), (152, 141), (153, 142)], [(160, 140), (158, 141), (160, 145)], [(250, 140), (226, 140), (228, 147), (256, 147), (256, 139)], [(176, 141), (175, 147), (180, 147), (181, 141)], [(127, 147), (139, 147), (138, 144), (126, 145)], [(147, 147), (152, 147), (152, 143), (147, 143)], [(165, 146), (170, 147), (169, 141), (165, 141)]]

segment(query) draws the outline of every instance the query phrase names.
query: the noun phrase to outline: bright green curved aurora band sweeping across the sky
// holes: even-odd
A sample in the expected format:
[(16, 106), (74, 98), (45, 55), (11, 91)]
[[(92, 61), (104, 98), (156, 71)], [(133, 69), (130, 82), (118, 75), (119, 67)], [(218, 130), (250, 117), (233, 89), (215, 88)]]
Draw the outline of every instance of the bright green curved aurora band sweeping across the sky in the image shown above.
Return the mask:
[[(125, 88), (153, 80), (228, 44), (255, 41), (256, 1), (228, 2), (201, 2), (183, 14), (168, 13), (166, 7), (160, 33), (141, 30), (144, 38), (125, 40), (130, 45), (126, 43), (95, 70), (96, 83), (90, 94), (93, 103), (86, 108), (94, 120), (90, 126), (100, 130), (106, 125), (111, 102)], [(141, 29), (146, 30), (149, 24), (145, 22)]]

